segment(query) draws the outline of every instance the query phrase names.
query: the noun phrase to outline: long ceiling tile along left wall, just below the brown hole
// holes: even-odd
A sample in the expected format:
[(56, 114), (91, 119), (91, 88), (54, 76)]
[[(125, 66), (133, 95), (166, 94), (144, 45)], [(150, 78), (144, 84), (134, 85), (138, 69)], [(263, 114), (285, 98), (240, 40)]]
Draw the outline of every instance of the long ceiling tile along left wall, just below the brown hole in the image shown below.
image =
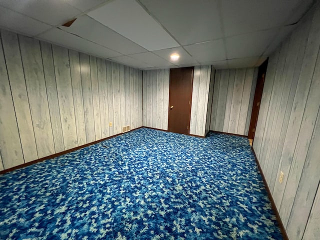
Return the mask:
[(37, 38), (102, 58), (121, 55), (118, 52), (62, 31), (58, 28), (52, 28), (44, 33), (41, 33), (37, 36)]

